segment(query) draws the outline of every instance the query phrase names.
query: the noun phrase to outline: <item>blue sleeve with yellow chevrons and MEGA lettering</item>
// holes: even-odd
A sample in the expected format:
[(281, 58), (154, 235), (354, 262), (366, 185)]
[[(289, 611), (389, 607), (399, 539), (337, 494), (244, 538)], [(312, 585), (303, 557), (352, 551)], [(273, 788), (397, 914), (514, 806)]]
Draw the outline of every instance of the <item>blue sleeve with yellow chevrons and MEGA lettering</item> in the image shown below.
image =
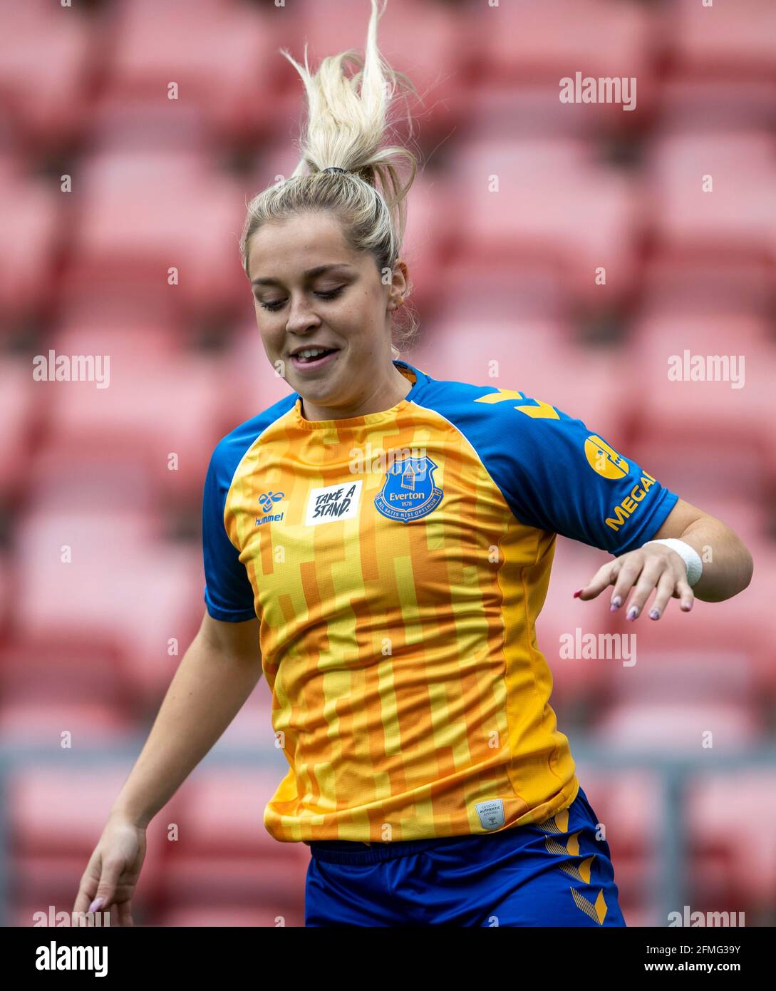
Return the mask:
[(654, 536), (678, 495), (557, 407), (528, 396), (498, 405), (481, 456), (520, 522), (615, 556)]

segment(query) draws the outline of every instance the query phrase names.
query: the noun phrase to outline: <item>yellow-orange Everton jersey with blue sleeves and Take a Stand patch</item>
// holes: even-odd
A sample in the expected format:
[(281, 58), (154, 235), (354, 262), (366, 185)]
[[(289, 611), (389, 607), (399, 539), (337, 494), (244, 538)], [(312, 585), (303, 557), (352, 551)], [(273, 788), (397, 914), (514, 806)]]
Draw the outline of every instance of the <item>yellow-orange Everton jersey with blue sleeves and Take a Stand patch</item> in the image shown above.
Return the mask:
[(307, 420), (291, 393), (213, 451), (205, 603), (260, 619), (289, 769), (278, 840), (542, 823), (579, 782), (536, 643), (555, 535), (620, 555), (677, 501), (581, 420), (407, 364), (391, 409)]

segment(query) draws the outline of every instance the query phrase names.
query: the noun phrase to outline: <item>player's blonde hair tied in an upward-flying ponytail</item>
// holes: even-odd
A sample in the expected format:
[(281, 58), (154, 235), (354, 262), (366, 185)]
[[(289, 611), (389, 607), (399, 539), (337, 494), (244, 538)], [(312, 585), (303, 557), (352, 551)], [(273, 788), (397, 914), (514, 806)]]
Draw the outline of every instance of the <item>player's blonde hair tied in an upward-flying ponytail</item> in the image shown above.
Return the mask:
[[(367, 31), (365, 57), (355, 50), (324, 58), (313, 75), (307, 64), (296, 62), (280, 49), (296, 68), (307, 97), (307, 121), (298, 150), (299, 164), (291, 175), (258, 193), (247, 204), (247, 217), (240, 238), (240, 257), (246, 275), (248, 246), (264, 224), (284, 220), (308, 211), (333, 213), (342, 224), (347, 244), (353, 251), (370, 252), (381, 277), (392, 269), (401, 251), (406, 227), (405, 197), (412, 185), (417, 162), (406, 148), (381, 148), (388, 130), (388, 110), (394, 96), (405, 87), (414, 86), (402, 72), (388, 66), (378, 51), (378, 13), (371, 0), (372, 14)], [(348, 63), (359, 69), (351, 77), (345, 72)], [(411, 134), (411, 118), (409, 133)], [(404, 185), (396, 160), (409, 163), (410, 174)], [(345, 172), (324, 171), (331, 166)], [(408, 286), (407, 294), (411, 291)], [(406, 296), (405, 296), (406, 298)], [(414, 315), (408, 312), (409, 326), (399, 335), (394, 325), (394, 342), (405, 346), (417, 329)], [(393, 357), (399, 350), (391, 346)]]

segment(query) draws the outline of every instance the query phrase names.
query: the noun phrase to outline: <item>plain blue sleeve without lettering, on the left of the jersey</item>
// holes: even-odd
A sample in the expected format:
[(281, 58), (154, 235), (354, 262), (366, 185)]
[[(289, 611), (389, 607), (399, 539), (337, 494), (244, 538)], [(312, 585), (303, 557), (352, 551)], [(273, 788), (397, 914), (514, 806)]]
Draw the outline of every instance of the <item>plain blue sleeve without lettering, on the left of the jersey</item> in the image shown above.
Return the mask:
[(205, 566), (204, 600), (214, 619), (242, 622), (255, 619), (254, 590), (240, 552), (229, 539), (224, 523), (226, 496), (236, 465), (225, 441), (210, 459), (202, 495), (202, 552)]

